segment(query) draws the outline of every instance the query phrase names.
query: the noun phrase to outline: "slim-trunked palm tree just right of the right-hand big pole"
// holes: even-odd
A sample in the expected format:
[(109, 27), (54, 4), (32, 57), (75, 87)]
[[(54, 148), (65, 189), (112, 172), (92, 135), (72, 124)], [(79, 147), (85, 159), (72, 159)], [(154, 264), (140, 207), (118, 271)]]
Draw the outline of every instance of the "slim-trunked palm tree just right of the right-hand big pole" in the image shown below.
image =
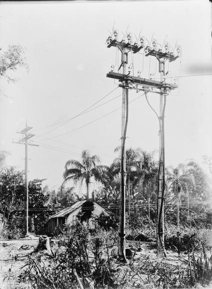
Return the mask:
[[(177, 168), (169, 167), (167, 171), (166, 182), (168, 187), (174, 192), (177, 198), (177, 227), (179, 228), (179, 207), (180, 207), (180, 196), (181, 193), (188, 192), (188, 186), (194, 185), (194, 180), (191, 174), (188, 173), (187, 168), (183, 164), (179, 164)], [(187, 195), (187, 202), (189, 206), (189, 194)]]

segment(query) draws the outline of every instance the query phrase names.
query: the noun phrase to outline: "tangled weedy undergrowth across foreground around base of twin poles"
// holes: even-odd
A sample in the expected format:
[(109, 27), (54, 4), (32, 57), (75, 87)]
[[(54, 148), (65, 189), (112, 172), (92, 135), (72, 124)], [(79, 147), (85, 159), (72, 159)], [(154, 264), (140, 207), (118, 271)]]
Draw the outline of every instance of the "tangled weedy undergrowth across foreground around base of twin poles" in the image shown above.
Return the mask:
[[(38, 289), (191, 288), (211, 280), (212, 260), (203, 239), (198, 239), (200, 235), (195, 236), (198, 246), (189, 241), (179, 254), (169, 250), (167, 258), (156, 249), (141, 246), (128, 257), (127, 264), (111, 254), (117, 248), (117, 238), (115, 230), (106, 231), (98, 225), (89, 229), (87, 224), (76, 223), (52, 246), (51, 256), (42, 252), (28, 256), (20, 280)], [(132, 249), (133, 244), (130, 246)]]

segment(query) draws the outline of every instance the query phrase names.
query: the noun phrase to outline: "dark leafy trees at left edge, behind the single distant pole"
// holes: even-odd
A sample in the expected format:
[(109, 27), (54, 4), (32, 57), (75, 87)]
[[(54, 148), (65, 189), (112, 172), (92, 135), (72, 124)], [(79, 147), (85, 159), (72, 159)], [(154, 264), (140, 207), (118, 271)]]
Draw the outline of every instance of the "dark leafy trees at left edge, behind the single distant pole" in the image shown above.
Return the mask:
[[(37, 233), (45, 233), (43, 229), (52, 214), (47, 207), (49, 196), (44, 194), (42, 182), (39, 179), (29, 182), (29, 221), (35, 221)], [(24, 187), (23, 171), (10, 167), (0, 175), (0, 214), (10, 231), (23, 229)]]

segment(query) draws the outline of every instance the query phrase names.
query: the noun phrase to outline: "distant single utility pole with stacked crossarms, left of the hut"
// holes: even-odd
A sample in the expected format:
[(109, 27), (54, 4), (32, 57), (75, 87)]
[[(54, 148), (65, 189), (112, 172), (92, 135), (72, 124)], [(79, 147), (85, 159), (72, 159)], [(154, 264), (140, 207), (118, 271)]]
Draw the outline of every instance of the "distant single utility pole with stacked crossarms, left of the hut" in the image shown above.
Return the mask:
[(24, 233), (25, 237), (29, 236), (28, 232), (28, 145), (29, 146), (35, 146), (39, 147), (39, 145), (35, 145), (34, 143), (29, 143), (28, 140), (35, 136), (33, 133), (28, 133), (30, 129), (32, 129), (32, 126), (27, 126), (26, 122), (26, 127), (18, 131), (17, 133), (24, 134), (25, 136), (20, 139), (19, 141), (13, 141), (13, 143), (19, 143), (20, 145), (25, 145), (25, 191), (24, 191)]

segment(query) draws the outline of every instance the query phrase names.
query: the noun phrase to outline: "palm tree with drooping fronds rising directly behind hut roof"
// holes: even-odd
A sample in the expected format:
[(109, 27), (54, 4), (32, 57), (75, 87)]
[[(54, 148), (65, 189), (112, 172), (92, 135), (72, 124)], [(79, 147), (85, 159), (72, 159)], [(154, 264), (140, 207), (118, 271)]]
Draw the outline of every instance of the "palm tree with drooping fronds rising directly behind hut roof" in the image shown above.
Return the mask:
[(69, 160), (65, 165), (65, 172), (63, 174), (65, 182), (73, 180), (74, 183), (80, 182), (81, 186), (83, 182), (86, 183), (87, 200), (90, 198), (89, 184), (91, 178), (94, 176), (97, 164), (100, 163), (100, 159), (96, 155), (91, 155), (87, 150), (82, 151), (82, 161)]

